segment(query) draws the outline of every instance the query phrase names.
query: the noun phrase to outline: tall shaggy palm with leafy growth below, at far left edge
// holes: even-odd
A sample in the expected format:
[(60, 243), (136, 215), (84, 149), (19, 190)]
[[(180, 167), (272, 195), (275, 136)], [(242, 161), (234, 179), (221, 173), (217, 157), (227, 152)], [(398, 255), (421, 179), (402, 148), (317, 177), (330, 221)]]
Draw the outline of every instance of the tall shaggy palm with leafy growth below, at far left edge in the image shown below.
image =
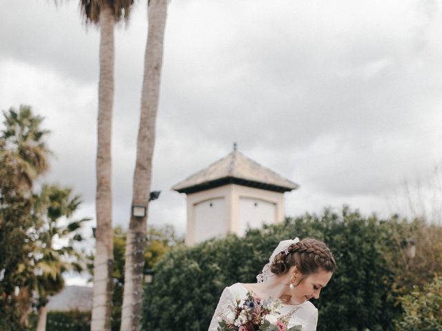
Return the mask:
[[(3, 111), (0, 132), (0, 329), (26, 327), (32, 272), (26, 268), (30, 245), (28, 228), (32, 227), (34, 199), (32, 184), (48, 170), (48, 154), (41, 129), (42, 117), (30, 106)], [(17, 286), (21, 289), (15, 295)], [(20, 309), (21, 308), (21, 309)], [(23, 314), (23, 311), (26, 313)]]

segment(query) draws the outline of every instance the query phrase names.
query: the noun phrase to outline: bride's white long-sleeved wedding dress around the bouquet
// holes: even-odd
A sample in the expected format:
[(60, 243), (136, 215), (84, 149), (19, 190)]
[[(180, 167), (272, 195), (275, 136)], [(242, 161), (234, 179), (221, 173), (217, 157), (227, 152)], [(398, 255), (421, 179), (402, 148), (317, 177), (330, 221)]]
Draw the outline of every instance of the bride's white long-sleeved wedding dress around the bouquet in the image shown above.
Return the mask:
[[(247, 289), (241, 283), (234, 283), (222, 291), (220, 301), (213, 314), (212, 321), (208, 331), (217, 331), (220, 314), (230, 312), (228, 306), (233, 305), (236, 299), (244, 300), (247, 295)], [(318, 323), (318, 310), (310, 301), (305, 301), (300, 305), (282, 305), (281, 314), (288, 314), (291, 310), (296, 310), (289, 321), (289, 328), (295, 325), (302, 325), (302, 331), (315, 331)]]

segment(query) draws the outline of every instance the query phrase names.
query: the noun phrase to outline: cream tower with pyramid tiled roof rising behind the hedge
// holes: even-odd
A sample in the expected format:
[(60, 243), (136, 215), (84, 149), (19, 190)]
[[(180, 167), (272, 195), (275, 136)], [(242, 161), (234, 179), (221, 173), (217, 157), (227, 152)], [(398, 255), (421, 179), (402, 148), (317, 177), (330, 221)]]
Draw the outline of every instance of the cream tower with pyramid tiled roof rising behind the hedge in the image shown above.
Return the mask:
[(296, 183), (245, 157), (234, 144), (226, 157), (172, 189), (187, 195), (186, 244), (193, 245), (282, 221), (284, 192), (296, 188)]

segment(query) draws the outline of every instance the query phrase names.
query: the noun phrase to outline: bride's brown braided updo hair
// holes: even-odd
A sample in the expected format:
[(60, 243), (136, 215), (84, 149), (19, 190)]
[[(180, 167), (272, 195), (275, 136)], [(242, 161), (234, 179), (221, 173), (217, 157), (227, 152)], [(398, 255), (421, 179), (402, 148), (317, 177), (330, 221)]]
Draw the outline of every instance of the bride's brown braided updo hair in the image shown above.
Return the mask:
[(270, 270), (273, 274), (285, 274), (294, 265), (305, 277), (320, 270), (334, 272), (336, 269), (336, 261), (327, 245), (310, 238), (302, 239), (277, 254)]

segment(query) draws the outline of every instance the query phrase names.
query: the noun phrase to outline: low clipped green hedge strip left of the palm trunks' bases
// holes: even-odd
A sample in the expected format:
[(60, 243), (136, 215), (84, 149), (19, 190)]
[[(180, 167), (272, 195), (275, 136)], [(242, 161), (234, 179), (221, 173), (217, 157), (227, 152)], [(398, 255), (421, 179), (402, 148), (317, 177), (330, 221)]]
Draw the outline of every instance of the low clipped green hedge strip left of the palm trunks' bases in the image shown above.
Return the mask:
[(90, 312), (51, 311), (46, 317), (46, 331), (89, 331)]

